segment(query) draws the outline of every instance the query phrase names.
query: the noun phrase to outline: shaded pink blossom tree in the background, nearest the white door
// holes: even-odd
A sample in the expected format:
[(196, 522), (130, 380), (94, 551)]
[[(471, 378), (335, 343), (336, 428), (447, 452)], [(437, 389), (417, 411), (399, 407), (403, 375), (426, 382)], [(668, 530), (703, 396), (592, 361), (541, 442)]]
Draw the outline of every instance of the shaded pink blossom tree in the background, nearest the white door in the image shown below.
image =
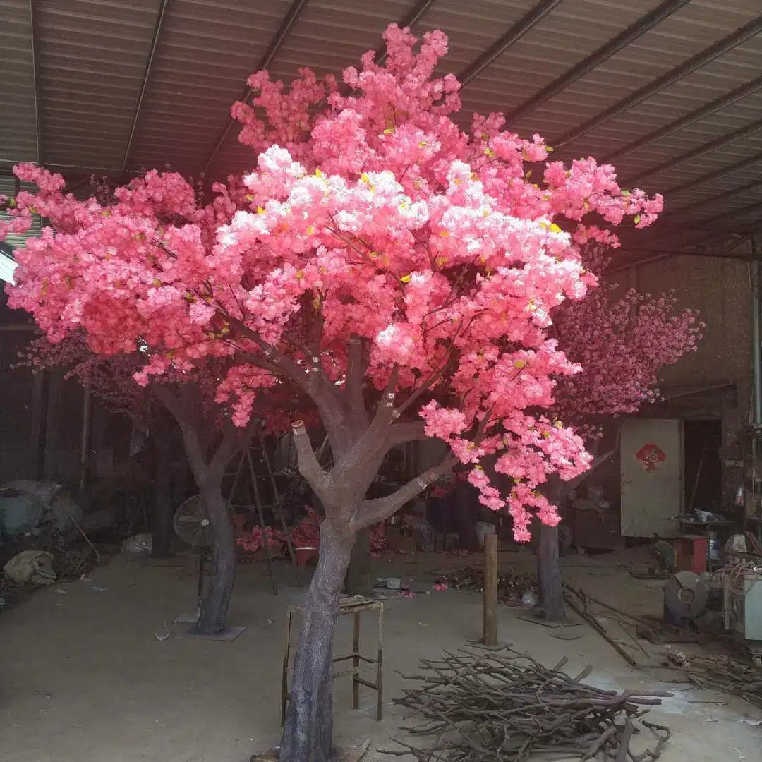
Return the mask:
[[(594, 247), (585, 262), (602, 270), (608, 259)], [(594, 446), (604, 421), (633, 415), (643, 404), (657, 401), (658, 373), (696, 350), (702, 327), (690, 309), (677, 309), (674, 294), (652, 296), (631, 289), (617, 296), (617, 290), (615, 284), (604, 284), (581, 300), (565, 303), (553, 313), (550, 330), (559, 348), (582, 369), (559, 379), (552, 412)], [(598, 456), (575, 479), (551, 475), (543, 492), (553, 504), (562, 504), (613, 454)], [(546, 620), (562, 621), (559, 531), (551, 523), (539, 526), (537, 580), (539, 613)]]

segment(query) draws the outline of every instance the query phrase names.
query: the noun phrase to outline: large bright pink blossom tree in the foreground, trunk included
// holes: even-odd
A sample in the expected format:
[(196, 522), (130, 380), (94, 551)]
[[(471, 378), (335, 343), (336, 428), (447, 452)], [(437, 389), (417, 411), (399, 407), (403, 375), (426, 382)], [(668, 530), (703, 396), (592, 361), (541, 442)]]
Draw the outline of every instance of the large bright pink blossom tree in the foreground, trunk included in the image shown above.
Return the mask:
[[(453, 121), (459, 83), (434, 77), (441, 32), (418, 52), (407, 30), (392, 25), (385, 40), (383, 65), (370, 52), (360, 72), (344, 71), (350, 95), (306, 69), (290, 88), (252, 75), (259, 95), (233, 113), (253, 169), (206, 203), (173, 173), (149, 172), (104, 206), (64, 196), (57, 175), (16, 169), (40, 187), (18, 195), (16, 213), (34, 206), (52, 227), (18, 252), (11, 303), (51, 341), (81, 330), (96, 354), (142, 350), (136, 379), (158, 389), (214, 360), (224, 370), (204, 377), (237, 427), (278, 383), (319, 413), (330, 470), (293, 422), (299, 471), (326, 515), (280, 747), (289, 762), (331, 751), (334, 620), (360, 530), (456, 463), (485, 505), (511, 513), (517, 539), (535, 515), (555, 523), (538, 488), (591, 458), (554, 423), (555, 383), (580, 368), (552, 338), (552, 312), (597, 283), (579, 240), (615, 239), (596, 220), (644, 227), (661, 210), (593, 159), (549, 162), (533, 184), (525, 163), (549, 150), (539, 136), (505, 131), (500, 115), (474, 117), (470, 133)], [(450, 456), (367, 499), (389, 449), (427, 436)], [(485, 456), (511, 476), (509, 494), (480, 468)], [(220, 531), (223, 507), (204, 494)]]

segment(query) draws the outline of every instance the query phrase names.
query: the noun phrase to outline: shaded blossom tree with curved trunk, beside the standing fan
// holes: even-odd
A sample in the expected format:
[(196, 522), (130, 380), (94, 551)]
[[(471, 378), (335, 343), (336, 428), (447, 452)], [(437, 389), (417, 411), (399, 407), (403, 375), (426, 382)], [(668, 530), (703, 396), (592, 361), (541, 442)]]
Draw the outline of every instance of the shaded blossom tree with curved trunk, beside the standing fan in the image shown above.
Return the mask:
[[(257, 431), (284, 431), (299, 404), (287, 386), (267, 389), (255, 401), (245, 427), (236, 427), (215, 402), (224, 365), (216, 357), (187, 373), (165, 373), (160, 381), (141, 386), (135, 376), (150, 357), (132, 354), (97, 354), (91, 351), (81, 330), (67, 333), (55, 343), (41, 337), (22, 355), (24, 367), (33, 371), (62, 370), (89, 386), (114, 413), (129, 415), (156, 440), (155, 488), (156, 554), (169, 551), (171, 518), (171, 441), (179, 425), (188, 465), (204, 495), (215, 529), (213, 571), (201, 602), (200, 616), (192, 631), (216, 634), (226, 627), (226, 614), (235, 582), (235, 545), (228, 506), (223, 496), (223, 477), (236, 454), (251, 442)], [(292, 413), (292, 415), (290, 415)], [(158, 543), (157, 543), (158, 539)]]

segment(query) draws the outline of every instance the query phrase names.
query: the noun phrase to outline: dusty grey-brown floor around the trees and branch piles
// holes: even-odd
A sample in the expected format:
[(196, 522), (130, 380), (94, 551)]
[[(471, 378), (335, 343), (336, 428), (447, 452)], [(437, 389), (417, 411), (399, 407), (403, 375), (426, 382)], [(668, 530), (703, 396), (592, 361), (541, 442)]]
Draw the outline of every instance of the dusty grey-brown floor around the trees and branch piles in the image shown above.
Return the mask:
[[(440, 568), (478, 562), (478, 556), (419, 554), (376, 562), (376, 571), (431, 591)], [(501, 554), (504, 565), (528, 562), (525, 555)], [(565, 560), (565, 577), (632, 613), (659, 613), (659, 583), (636, 581), (627, 562), (572, 557)], [(301, 594), (290, 569), (279, 568), (281, 591), (273, 597), (266, 568), (242, 565), (229, 622), (247, 629), (235, 642), (189, 639), (170, 625), (194, 610), (192, 563), (180, 577), (178, 563), (157, 566), (117, 556), (88, 580), (54, 585), (0, 614), (0, 760), (243, 762), (277, 742), (283, 624), (288, 604)], [(549, 629), (520, 619), (526, 613), (501, 607), (503, 642), (545, 664), (568, 656), (570, 671), (592, 664), (589, 679), (599, 687), (674, 692), (653, 710), (653, 718), (673, 732), (663, 762), (762, 762), (762, 726), (754, 724), (760, 713), (750, 705), (664, 684), (674, 673), (629, 668), (588, 626)], [(363, 639), (372, 646), (372, 619), (363, 616)], [(383, 722), (374, 719), (375, 694), (363, 690), (362, 706), (352, 712), (349, 678), (338, 680), (340, 745), (370, 739), (376, 749), (389, 748), (403, 716), (392, 704), (402, 686), (396, 671), (414, 673), (420, 658), (477, 639), (482, 607), (479, 594), (422, 592), (389, 598), (384, 617)], [(168, 629), (171, 636), (158, 639)], [(572, 639), (561, 639), (561, 632)], [(347, 648), (348, 637), (349, 623), (341, 621), (337, 653)], [(658, 664), (664, 647), (646, 648)]]

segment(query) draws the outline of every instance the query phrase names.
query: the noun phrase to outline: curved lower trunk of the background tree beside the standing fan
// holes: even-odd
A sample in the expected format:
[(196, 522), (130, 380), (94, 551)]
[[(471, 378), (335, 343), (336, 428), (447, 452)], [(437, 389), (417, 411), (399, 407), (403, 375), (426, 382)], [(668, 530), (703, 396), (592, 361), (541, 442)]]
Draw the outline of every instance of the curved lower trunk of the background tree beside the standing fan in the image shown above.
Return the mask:
[(235, 584), (235, 544), (227, 503), (223, 498), (222, 475), (209, 475), (201, 494), (214, 530), (214, 551), (200, 616), (191, 631), (199, 635), (217, 635), (226, 629), (226, 616)]

